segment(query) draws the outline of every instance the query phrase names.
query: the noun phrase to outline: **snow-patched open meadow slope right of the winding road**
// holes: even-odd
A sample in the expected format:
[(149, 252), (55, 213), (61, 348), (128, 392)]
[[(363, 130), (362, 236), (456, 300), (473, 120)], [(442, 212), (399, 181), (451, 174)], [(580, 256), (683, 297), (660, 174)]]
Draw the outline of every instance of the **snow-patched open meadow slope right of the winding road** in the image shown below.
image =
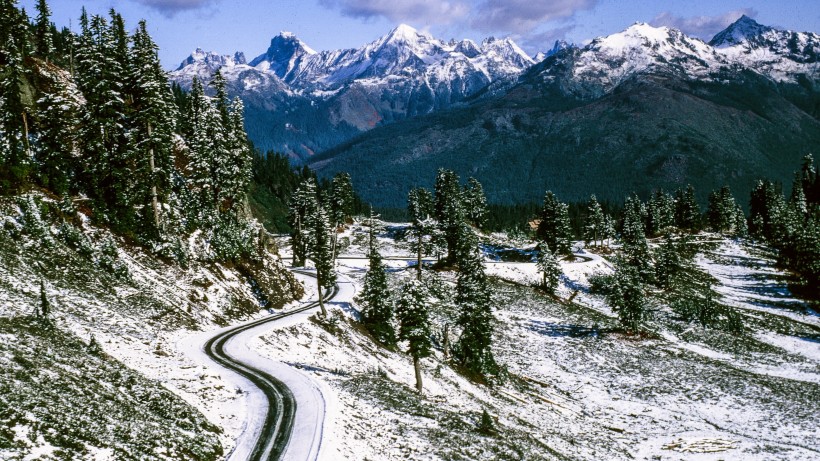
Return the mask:
[[(381, 236), (385, 255), (407, 254), (407, 242), (393, 238), (401, 227)], [(332, 321), (293, 324), (253, 345), (329, 389), (326, 459), (810, 460), (820, 450), (820, 321), (777, 281), (760, 248), (704, 240), (702, 266), (747, 325), (735, 335), (687, 324), (663, 306), (653, 333), (624, 335), (603, 298), (589, 293), (588, 277), (610, 270), (590, 251), (561, 263), (558, 299), (530, 287), (534, 264), (487, 261), (493, 350), (507, 381), (478, 385), (447, 365), (443, 328), (457, 311), (439, 300), (419, 396), (410, 357), (377, 346), (356, 321), (365, 233), (354, 226), (340, 237), (342, 292)], [(503, 235), (488, 241), (513, 243)], [(387, 264), (393, 290), (415, 276), (412, 263)], [(445, 286), (455, 280), (449, 272), (425, 276)], [(493, 434), (482, 432), (484, 410)]]

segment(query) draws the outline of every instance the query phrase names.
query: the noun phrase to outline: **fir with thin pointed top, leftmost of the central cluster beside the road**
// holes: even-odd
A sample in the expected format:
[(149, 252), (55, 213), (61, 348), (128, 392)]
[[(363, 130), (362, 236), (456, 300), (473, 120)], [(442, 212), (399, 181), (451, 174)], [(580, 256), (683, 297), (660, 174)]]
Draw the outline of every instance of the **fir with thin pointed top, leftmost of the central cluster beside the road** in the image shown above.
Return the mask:
[(393, 300), (387, 286), (387, 272), (374, 233), (375, 228), (371, 227), (367, 254), (370, 264), (364, 276), (362, 292), (356, 301), (362, 305), (362, 324), (370, 334), (382, 344), (393, 345), (396, 343), (396, 332), (392, 323)]

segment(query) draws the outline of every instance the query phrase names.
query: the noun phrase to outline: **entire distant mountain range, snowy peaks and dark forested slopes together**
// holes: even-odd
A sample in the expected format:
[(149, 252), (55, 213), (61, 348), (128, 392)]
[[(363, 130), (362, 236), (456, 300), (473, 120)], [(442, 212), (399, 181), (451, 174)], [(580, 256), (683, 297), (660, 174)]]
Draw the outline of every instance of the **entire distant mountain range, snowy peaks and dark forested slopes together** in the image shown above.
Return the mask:
[(402, 206), (442, 166), (502, 203), (687, 183), (705, 198), (758, 177), (788, 184), (820, 145), (819, 57), (817, 34), (743, 16), (708, 43), (636, 23), (538, 62), (510, 40), (445, 43), (406, 26), (322, 53), (281, 34), (250, 64), (199, 52), (172, 75), (184, 85), (221, 67), (252, 139), (320, 175), (349, 171), (377, 205)]

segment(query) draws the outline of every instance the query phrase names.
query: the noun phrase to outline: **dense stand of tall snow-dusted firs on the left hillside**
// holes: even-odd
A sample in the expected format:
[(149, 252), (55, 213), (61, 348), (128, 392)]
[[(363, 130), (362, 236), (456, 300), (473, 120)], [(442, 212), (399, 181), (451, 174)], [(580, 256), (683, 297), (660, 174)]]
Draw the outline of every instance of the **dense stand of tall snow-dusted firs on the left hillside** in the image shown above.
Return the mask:
[(194, 81), (175, 98), (144, 21), (129, 34), (113, 9), (83, 9), (79, 34), (57, 34), (45, 0), (34, 24), (15, 3), (0, 0), (0, 193), (82, 194), (93, 219), (137, 241), (202, 229), (218, 259), (251, 252), (253, 148), (221, 75), (215, 97)]

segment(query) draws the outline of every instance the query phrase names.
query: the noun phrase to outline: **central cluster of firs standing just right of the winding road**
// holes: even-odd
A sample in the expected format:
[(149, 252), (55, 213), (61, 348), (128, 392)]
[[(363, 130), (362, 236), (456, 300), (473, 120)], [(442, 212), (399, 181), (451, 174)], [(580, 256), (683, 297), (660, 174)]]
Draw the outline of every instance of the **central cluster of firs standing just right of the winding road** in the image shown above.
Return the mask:
[[(420, 392), (420, 359), (432, 350), (428, 306), (439, 297), (427, 283), (431, 276), (424, 275), (421, 258), (439, 248), (446, 252), (440, 264), (458, 270), (453, 302), (459, 309), (455, 325), (460, 332), (453, 345), (452, 359), (473, 376), (497, 374), (499, 368), (492, 354), (494, 320), (490, 288), (474, 230), (486, 216), (481, 184), (471, 179), (462, 186), (454, 172), (439, 170), (435, 194), (423, 188), (413, 189), (408, 195), (408, 212), (412, 218), (408, 237), (418, 255), (416, 278), (404, 284), (398, 294), (391, 293), (374, 236), (376, 230), (371, 227), (370, 268), (358, 298), (363, 324), (386, 345), (407, 342)], [(394, 317), (398, 320), (398, 334), (393, 327)], [(445, 325), (444, 331), (445, 356), (450, 357), (449, 326)]]

